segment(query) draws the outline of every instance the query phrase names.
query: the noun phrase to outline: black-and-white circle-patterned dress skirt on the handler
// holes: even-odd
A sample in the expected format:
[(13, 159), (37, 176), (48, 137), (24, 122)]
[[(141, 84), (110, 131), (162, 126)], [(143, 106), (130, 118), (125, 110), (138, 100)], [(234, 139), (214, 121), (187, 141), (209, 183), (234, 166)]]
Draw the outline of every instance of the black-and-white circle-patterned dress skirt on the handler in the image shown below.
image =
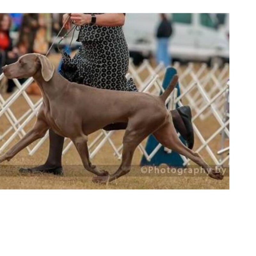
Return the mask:
[(122, 26), (83, 25), (77, 41), (82, 46), (72, 59), (62, 51), (62, 76), (100, 89), (138, 91), (132, 78), (125, 77), (129, 51)]

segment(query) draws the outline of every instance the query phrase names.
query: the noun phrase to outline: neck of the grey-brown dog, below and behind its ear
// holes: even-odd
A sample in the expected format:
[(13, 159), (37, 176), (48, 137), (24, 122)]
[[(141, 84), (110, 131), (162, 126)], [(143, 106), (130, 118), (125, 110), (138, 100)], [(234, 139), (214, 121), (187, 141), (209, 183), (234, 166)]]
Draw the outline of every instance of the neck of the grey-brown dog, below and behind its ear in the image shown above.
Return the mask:
[(34, 80), (38, 84), (44, 100), (54, 100), (59, 97), (67, 88), (67, 80), (60, 76), (55, 70), (52, 78), (46, 82), (39, 69), (33, 76)]

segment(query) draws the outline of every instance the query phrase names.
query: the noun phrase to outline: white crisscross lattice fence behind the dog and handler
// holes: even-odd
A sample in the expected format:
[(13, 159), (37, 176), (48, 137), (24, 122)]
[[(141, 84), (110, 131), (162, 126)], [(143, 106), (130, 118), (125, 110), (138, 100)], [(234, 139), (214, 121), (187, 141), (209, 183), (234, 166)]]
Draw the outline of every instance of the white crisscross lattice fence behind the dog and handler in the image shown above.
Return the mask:
[[(181, 66), (179, 63), (175, 63), (174, 68), (177, 69), (180, 80), (181, 95), (176, 96), (175, 90), (169, 97), (171, 104), (170, 108), (174, 108), (177, 103), (179, 106), (188, 104), (193, 111), (193, 125), (195, 134), (200, 142), (195, 148), (197, 152), (206, 150), (212, 159), (214, 164), (226, 163), (229, 156), (218, 159), (216, 150), (211, 148), (211, 142), (218, 140), (219, 134), (223, 131), (225, 137), (229, 138), (228, 124), (229, 119), (224, 122), (223, 120), (223, 106), (226, 102), (225, 92), (228, 90), (226, 81), (229, 76), (229, 66), (226, 64), (223, 68), (214, 66), (209, 69), (205, 64), (195, 65), (193, 63), (187, 66)], [(158, 95), (162, 88), (162, 80), (164, 77), (165, 68), (162, 64), (153, 68), (148, 60), (145, 60), (140, 67), (136, 68), (130, 62), (129, 74), (127, 78), (132, 77), (137, 84), (141, 92), (150, 92)], [(0, 81), (4, 78), (3, 74), (0, 75)], [(24, 84), (20, 84), (17, 79), (14, 79), (14, 83), (17, 86), (17, 90), (12, 95), (1, 95), (0, 93), (0, 153), (14, 143), (17, 138), (22, 138), (27, 132), (27, 126), (34, 121), (37, 110), (42, 104), (42, 99), (36, 98), (31, 100), (26, 89), (33, 82), (32, 78), (29, 78)], [(22, 101), (21, 101), (22, 99)], [(21, 116), (15, 116), (15, 109), (19, 108), (16, 104), (22, 102)], [(26, 107), (27, 106), (27, 107)], [(211, 135), (206, 138), (202, 128), (197, 126), (197, 120), (207, 122), (208, 118), (214, 118), (215, 123), (218, 125)], [(122, 145), (116, 146), (111, 137), (115, 134), (115, 131), (101, 131), (98, 136), (89, 145), (90, 157), (93, 158), (100, 149), (109, 143), (113, 149), (113, 153), (120, 159), (122, 153)], [(222, 136), (223, 137), (223, 136)], [(48, 138), (48, 133), (44, 138), (40, 139), (33, 144), (34, 146), (27, 147), (29, 155), (33, 155), (38, 148)], [(68, 139), (67, 139), (68, 140)], [(72, 147), (72, 142), (68, 141), (67, 146), (63, 149), (63, 155)], [(160, 148), (160, 144), (149, 155), (145, 151), (142, 144), (139, 149), (142, 154), (150, 160)], [(92, 150), (93, 148), (93, 150)], [(186, 163), (189, 163), (185, 157), (183, 157)]]

